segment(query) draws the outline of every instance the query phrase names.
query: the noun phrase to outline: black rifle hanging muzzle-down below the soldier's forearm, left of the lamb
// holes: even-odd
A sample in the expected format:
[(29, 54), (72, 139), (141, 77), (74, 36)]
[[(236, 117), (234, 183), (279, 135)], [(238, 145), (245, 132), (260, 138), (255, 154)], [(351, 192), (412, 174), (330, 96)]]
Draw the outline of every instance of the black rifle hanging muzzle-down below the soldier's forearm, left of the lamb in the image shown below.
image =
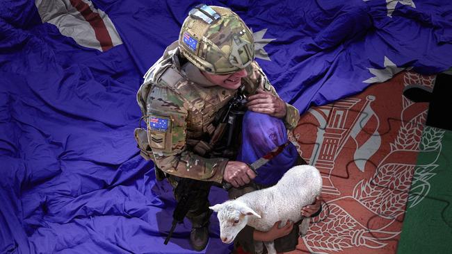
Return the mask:
[(184, 221), (184, 217), (193, 203), (195, 203), (195, 200), (198, 198), (207, 198), (207, 196), (209, 196), (211, 185), (211, 182), (191, 178), (180, 178), (175, 189), (175, 196), (179, 197), (179, 201), (174, 212), (172, 212), (172, 226), (164, 244), (168, 244), (177, 223), (182, 223), (182, 221)]

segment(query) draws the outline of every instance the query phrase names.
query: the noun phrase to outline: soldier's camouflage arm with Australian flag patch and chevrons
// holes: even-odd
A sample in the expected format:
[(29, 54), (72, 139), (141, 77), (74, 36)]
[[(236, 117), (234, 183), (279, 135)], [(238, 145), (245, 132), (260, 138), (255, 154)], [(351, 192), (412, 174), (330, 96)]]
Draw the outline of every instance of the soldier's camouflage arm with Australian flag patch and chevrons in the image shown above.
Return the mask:
[(187, 149), (188, 108), (188, 102), (168, 87), (152, 87), (146, 122), (154, 162), (173, 176), (221, 183), (227, 159), (203, 158)]

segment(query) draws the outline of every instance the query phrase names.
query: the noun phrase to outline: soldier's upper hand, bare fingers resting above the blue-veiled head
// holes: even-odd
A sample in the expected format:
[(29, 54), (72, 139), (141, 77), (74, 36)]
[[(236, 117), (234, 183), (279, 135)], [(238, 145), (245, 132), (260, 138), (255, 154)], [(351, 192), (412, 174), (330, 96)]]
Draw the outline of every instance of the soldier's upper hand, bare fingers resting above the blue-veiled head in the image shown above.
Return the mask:
[(286, 116), (286, 103), (271, 92), (258, 89), (257, 94), (248, 97), (248, 110), (283, 118)]

